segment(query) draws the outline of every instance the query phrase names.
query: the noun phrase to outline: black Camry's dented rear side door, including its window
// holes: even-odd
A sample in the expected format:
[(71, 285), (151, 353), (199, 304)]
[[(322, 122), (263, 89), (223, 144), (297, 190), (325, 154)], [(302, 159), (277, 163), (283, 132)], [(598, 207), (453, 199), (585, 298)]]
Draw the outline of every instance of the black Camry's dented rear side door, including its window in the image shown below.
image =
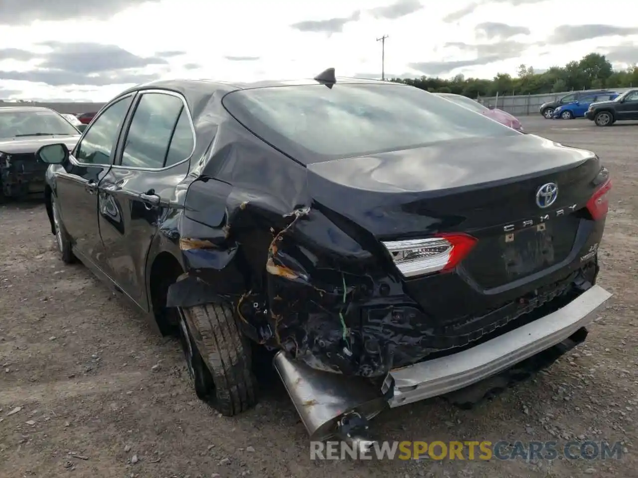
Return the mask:
[(181, 95), (142, 91), (115, 165), (100, 182), (99, 221), (108, 275), (149, 310), (145, 265), (158, 224), (186, 177), (195, 148), (188, 105)]

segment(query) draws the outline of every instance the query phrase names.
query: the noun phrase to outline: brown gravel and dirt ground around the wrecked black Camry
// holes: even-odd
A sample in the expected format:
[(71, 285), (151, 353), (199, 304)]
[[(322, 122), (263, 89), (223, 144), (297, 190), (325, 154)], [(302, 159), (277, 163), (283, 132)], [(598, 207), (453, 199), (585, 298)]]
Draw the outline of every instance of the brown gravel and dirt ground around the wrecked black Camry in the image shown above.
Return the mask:
[(0, 476), (638, 476), (638, 125), (523, 122), (597, 152), (611, 170), (600, 284), (614, 297), (585, 344), (535, 379), (472, 410), (437, 399), (390, 410), (375, 430), (426, 442), (620, 440), (621, 460), (311, 461), (278, 382), (265, 382), (256, 409), (218, 416), (197, 400), (177, 342), (154, 335), (83, 266), (61, 263), (43, 205), (28, 203), (0, 207)]

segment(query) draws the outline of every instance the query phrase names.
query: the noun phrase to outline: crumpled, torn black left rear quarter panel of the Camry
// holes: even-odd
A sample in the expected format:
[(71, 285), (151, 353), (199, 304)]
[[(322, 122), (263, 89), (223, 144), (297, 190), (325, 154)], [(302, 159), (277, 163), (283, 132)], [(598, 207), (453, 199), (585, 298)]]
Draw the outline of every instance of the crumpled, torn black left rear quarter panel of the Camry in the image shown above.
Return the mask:
[(228, 301), (255, 342), (321, 370), (385, 375), (422, 356), (428, 331), (406, 329), (422, 312), (375, 238), (313, 202), (307, 173), (233, 119), (219, 124), (191, 173), (177, 226), (186, 273), (168, 305)]

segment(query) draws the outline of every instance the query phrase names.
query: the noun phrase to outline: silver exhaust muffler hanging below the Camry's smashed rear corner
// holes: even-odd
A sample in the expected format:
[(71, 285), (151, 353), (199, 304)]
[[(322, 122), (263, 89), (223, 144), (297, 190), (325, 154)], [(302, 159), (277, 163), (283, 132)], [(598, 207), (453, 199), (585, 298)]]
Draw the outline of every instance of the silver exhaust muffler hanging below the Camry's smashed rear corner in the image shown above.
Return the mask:
[(367, 421), (389, 408), (381, 387), (363, 377), (315, 370), (302, 361), (277, 352), (275, 370), (313, 441), (339, 437), (365, 453), (375, 444)]

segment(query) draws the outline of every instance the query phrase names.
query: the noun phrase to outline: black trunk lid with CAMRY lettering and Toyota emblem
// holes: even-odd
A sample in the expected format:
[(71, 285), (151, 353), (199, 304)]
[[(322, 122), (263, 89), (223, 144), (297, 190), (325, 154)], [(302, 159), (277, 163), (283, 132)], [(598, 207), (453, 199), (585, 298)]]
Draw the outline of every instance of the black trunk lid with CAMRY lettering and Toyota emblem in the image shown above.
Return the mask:
[[(591, 152), (521, 134), (315, 163), (308, 170), (313, 199), (376, 240), (475, 236), (461, 270), (480, 289), (492, 289), (567, 259), (600, 164)], [(541, 207), (546, 203), (537, 193), (547, 184), (558, 192)]]

